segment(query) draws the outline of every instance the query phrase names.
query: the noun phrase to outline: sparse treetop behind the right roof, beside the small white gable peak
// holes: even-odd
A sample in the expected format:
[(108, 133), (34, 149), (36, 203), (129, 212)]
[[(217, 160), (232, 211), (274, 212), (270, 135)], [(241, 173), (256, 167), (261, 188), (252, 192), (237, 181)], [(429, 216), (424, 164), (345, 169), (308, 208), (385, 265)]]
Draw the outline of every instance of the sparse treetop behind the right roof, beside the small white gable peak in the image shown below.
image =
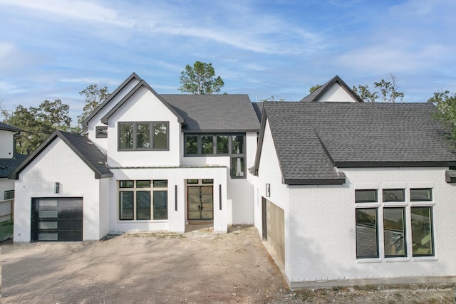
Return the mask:
[(353, 86), (353, 92), (366, 103), (376, 103), (378, 101), (383, 103), (403, 102), (404, 93), (398, 91), (396, 81), (395, 75), (390, 74), (390, 78), (387, 78), (387, 80), (382, 79), (373, 83), (374, 91), (371, 91), (368, 85), (358, 85), (358, 88)]

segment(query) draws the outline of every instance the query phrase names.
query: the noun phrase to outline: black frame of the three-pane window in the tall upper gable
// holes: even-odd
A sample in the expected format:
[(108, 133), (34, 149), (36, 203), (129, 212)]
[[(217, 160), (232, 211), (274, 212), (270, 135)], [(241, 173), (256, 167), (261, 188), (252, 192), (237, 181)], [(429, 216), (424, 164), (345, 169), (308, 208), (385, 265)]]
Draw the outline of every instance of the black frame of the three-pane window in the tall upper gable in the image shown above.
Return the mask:
[[(155, 148), (155, 125), (166, 125), (166, 148)], [(120, 147), (121, 129), (123, 125), (133, 125), (132, 148)], [(149, 147), (138, 147), (138, 125), (149, 125)], [(138, 121), (138, 122), (118, 122), (118, 151), (169, 151), (170, 150), (170, 122), (168, 121)]]

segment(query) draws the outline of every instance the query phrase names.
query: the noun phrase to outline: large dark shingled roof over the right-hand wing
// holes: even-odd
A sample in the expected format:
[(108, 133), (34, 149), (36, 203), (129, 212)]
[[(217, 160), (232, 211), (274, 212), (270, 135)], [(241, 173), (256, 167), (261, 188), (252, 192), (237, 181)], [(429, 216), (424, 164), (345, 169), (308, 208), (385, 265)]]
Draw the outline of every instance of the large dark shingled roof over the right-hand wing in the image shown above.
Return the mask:
[[(445, 128), (432, 118), (430, 103), (265, 103), (264, 107), (286, 184), (340, 182), (343, 174), (336, 167), (456, 165), (455, 150), (445, 139)], [(261, 147), (255, 172), (260, 154)]]

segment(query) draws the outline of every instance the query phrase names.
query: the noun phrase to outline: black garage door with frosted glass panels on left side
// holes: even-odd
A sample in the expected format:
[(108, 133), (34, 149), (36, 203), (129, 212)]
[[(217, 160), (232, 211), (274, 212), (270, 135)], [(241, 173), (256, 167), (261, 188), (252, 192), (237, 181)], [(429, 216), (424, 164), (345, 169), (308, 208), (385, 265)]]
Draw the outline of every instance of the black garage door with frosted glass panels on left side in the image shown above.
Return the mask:
[(82, 241), (83, 199), (32, 199), (32, 241)]

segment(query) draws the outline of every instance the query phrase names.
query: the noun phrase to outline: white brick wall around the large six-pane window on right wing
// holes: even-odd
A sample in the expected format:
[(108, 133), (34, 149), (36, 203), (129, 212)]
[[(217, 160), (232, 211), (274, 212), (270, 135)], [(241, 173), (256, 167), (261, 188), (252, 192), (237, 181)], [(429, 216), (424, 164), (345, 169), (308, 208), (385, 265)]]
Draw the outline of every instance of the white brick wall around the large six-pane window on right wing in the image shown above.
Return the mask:
[[(445, 182), (447, 168), (343, 169), (341, 186), (290, 187), (290, 243), (286, 276), (290, 281), (339, 278), (395, 278), (401, 276), (455, 276), (456, 187)], [(380, 258), (356, 259), (355, 189), (405, 187), (407, 258), (385, 258), (383, 222), (379, 211)], [(435, 257), (412, 257), (410, 187), (432, 187)], [(411, 203), (417, 205), (417, 203)], [(374, 204), (375, 205), (375, 204)], [(382, 203), (379, 204), (380, 209)], [(395, 206), (395, 205), (390, 205)]]

